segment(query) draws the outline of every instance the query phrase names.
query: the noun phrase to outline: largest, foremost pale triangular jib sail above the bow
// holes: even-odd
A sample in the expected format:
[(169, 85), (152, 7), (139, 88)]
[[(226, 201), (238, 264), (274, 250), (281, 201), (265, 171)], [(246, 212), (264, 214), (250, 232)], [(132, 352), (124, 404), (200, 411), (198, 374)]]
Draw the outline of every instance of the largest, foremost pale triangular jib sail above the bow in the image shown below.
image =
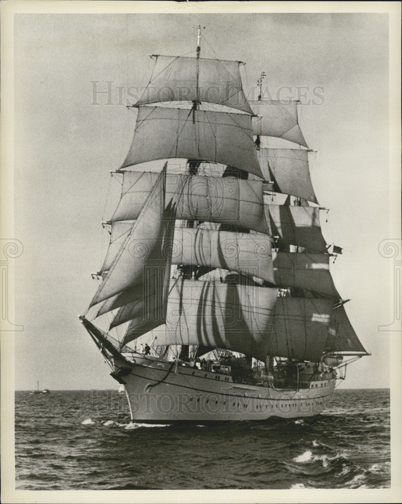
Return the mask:
[[(159, 282), (160, 286), (166, 281), (168, 283), (170, 261), (166, 257), (165, 248), (172, 244), (174, 212), (171, 208), (165, 209), (165, 184), (166, 165), (145, 200), (138, 220), (126, 233), (90, 306), (119, 294), (128, 287), (148, 282), (151, 285)], [(166, 213), (170, 219), (164, 219)], [(163, 288), (159, 291), (163, 291)]]

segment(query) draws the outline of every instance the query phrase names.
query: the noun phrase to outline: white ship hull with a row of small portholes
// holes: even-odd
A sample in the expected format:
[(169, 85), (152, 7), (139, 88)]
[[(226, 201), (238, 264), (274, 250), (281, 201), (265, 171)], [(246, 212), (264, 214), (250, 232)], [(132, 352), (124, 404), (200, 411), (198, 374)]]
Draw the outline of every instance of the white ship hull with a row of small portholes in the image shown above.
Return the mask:
[(313, 416), (325, 408), (336, 379), (311, 381), (309, 388), (276, 389), (233, 383), (231, 376), (184, 367), (155, 357), (115, 359), (126, 368), (125, 382), (131, 420), (138, 422), (265, 420), (272, 416)]

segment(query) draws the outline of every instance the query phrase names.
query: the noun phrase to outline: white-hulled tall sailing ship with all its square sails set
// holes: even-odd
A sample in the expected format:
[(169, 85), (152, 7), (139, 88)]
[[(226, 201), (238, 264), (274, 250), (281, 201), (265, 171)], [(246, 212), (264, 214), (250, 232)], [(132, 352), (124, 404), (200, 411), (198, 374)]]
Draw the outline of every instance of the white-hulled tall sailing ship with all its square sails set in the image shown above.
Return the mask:
[(247, 100), (243, 62), (200, 57), (199, 29), (195, 57), (151, 57), (80, 320), (133, 421), (316, 415), (368, 352), (329, 272), (342, 249), (321, 232), (298, 102), (263, 99), (264, 73)]

